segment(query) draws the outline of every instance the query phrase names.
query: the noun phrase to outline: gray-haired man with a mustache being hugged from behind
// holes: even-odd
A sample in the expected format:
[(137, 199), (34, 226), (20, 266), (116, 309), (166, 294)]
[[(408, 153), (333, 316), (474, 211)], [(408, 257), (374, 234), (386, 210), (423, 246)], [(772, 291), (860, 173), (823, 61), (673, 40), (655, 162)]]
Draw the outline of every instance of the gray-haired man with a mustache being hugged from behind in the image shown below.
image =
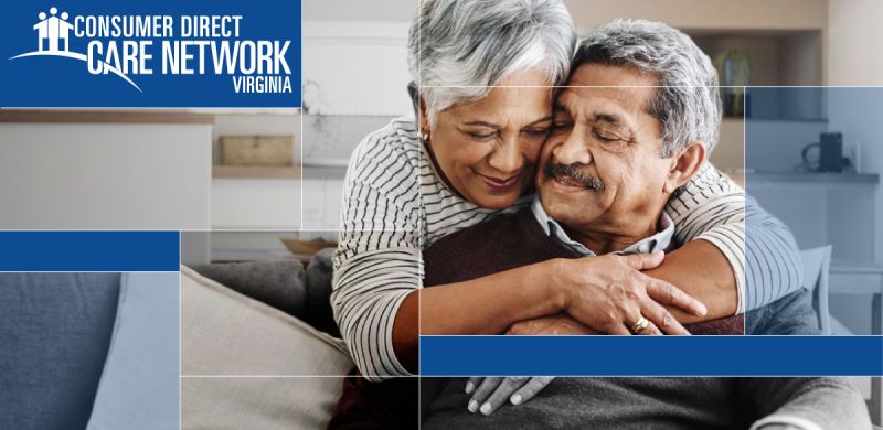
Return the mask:
[[(568, 86), (557, 98), (533, 204), (435, 243), (424, 252), (425, 286), (552, 258), (675, 247), (674, 223), (663, 208), (672, 193), (703, 174), (720, 121), (717, 107), (709, 106), (719, 103), (716, 92), (708, 57), (677, 30), (646, 21), (615, 21), (597, 30), (581, 44)], [(675, 117), (688, 119), (685, 128), (672, 127), (684, 122), (669, 121)], [(794, 316), (790, 326), (775, 324), (779, 334), (811, 333), (804, 291), (770, 307), (773, 314), (781, 310)], [(651, 329), (639, 309), (631, 312), (632, 332)], [(757, 333), (774, 326), (752, 321), (751, 313), (746, 320)], [(728, 322), (688, 329), (741, 332)], [(518, 323), (512, 333), (591, 330), (562, 313)], [(433, 400), (423, 428), (870, 428), (861, 397), (837, 378), (561, 378), (524, 404), (550, 379), (526, 380), (496, 378), (476, 387), (453, 379), (438, 395), (426, 389), (424, 396)], [(472, 391), (483, 391), (488, 400), (479, 405), (474, 397), (467, 410), (462, 406)], [(519, 406), (493, 412), (500, 393)]]

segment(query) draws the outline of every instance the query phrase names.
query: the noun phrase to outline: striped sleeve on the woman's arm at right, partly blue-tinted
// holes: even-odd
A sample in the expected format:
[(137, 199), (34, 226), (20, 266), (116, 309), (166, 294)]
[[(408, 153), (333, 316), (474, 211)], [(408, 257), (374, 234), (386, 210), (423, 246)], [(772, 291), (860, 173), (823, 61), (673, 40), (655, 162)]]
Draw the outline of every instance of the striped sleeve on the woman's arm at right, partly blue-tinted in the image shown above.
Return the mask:
[(802, 267), (788, 227), (711, 163), (669, 200), (675, 240), (704, 239), (723, 252), (738, 290), (736, 313), (766, 305), (800, 288)]

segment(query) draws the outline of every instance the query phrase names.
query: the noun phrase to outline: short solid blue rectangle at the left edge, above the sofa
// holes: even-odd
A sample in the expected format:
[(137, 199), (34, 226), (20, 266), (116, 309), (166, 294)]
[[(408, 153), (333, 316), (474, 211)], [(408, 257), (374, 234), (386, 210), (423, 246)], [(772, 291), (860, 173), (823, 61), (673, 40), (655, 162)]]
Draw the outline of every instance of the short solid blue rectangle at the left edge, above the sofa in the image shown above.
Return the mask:
[(0, 232), (0, 271), (178, 271), (178, 232)]

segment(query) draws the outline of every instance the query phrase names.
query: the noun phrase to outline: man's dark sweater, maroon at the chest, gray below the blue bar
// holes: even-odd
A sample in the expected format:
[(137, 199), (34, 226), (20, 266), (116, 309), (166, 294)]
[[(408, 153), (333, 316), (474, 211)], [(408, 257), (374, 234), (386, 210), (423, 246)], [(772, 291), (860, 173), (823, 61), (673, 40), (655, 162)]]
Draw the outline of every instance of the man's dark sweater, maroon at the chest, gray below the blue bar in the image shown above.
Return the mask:
[[(424, 251), (424, 286), (577, 257), (546, 236), (525, 208), (433, 244)], [(808, 307), (805, 297), (786, 299), (780, 304)], [(694, 334), (742, 334), (743, 321), (734, 316), (687, 329)], [(807, 332), (802, 326), (795, 330)], [(489, 417), (466, 410), (464, 379), (424, 385), (424, 396), (440, 390), (425, 409), (424, 429), (747, 429), (751, 421), (777, 411), (810, 418), (823, 428), (843, 428), (857, 413), (860, 421), (854, 422), (862, 422), (854, 390), (829, 378), (557, 378), (524, 405), (503, 406)]]

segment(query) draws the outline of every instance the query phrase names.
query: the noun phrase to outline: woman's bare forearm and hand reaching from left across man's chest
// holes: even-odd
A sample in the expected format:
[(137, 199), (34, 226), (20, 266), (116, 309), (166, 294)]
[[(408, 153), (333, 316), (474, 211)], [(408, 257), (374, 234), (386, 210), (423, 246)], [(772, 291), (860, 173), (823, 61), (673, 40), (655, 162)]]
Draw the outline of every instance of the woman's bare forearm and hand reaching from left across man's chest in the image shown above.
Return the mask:
[(640, 272), (662, 258), (657, 252), (552, 259), (412, 292), (395, 315), (395, 355), (414, 372), (419, 334), (500, 334), (518, 321), (558, 312), (602, 333), (630, 334), (643, 315), (651, 322), (646, 334), (689, 334), (660, 303), (693, 314), (705, 312), (702, 303)]

